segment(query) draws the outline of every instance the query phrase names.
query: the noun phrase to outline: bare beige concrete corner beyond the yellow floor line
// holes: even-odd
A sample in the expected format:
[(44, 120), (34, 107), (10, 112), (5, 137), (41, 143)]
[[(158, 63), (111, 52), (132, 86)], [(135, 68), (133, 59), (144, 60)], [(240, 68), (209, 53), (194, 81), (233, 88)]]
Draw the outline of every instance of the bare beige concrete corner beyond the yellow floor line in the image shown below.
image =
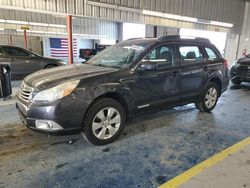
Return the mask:
[(193, 177), (180, 188), (250, 187), (250, 145)]

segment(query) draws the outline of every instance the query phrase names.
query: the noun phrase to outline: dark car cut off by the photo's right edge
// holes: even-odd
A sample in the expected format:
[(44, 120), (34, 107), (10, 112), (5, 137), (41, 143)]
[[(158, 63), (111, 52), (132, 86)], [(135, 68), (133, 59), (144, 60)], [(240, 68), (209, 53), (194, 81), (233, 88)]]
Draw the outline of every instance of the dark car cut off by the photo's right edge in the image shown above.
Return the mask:
[(232, 65), (230, 79), (234, 85), (240, 85), (241, 82), (250, 82), (250, 54)]

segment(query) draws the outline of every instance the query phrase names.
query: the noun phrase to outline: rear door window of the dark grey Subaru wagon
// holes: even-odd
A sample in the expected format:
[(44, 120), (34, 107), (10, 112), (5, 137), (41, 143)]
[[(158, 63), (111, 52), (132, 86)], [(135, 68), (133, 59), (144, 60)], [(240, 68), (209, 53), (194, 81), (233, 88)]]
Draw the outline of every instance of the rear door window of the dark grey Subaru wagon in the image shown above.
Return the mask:
[(202, 62), (202, 54), (198, 46), (180, 46), (181, 64), (193, 64)]

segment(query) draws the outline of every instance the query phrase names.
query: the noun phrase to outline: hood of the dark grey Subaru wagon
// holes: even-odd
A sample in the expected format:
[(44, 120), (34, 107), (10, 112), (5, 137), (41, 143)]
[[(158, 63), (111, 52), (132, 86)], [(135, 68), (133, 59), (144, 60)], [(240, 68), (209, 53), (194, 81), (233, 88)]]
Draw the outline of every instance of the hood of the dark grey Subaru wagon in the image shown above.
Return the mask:
[(37, 71), (24, 78), (24, 82), (36, 89), (47, 89), (71, 80), (93, 77), (118, 71), (118, 69), (87, 64), (66, 65)]

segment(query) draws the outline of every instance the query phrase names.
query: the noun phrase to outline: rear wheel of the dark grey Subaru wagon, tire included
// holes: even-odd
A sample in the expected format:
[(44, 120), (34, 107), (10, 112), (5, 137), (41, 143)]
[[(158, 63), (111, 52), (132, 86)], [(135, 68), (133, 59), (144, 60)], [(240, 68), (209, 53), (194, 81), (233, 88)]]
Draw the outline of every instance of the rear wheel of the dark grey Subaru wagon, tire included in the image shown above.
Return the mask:
[(203, 93), (201, 101), (196, 102), (195, 106), (201, 112), (211, 112), (215, 108), (218, 98), (219, 87), (216, 83), (210, 82)]

